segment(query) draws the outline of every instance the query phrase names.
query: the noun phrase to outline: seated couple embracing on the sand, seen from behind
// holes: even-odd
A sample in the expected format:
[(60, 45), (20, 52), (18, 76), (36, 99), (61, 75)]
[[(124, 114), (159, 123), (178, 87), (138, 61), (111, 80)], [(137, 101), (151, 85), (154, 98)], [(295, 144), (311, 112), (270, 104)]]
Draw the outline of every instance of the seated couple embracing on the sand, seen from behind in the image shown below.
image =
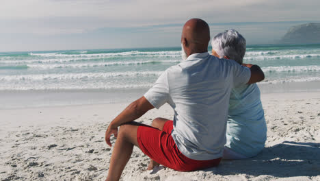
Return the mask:
[[(205, 21), (187, 21), (181, 36), (183, 61), (165, 70), (143, 97), (111, 121), (105, 141), (111, 146), (111, 134), (117, 140), (107, 180), (120, 179), (134, 145), (150, 157), (148, 169), (161, 164), (177, 171), (215, 167), (222, 158), (248, 158), (263, 149), (266, 125), (254, 84), (264, 79), (263, 71), (242, 64), (245, 39), (234, 30), (213, 38), (213, 56), (209, 40)], [(173, 121), (133, 122), (165, 103), (174, 109)]]

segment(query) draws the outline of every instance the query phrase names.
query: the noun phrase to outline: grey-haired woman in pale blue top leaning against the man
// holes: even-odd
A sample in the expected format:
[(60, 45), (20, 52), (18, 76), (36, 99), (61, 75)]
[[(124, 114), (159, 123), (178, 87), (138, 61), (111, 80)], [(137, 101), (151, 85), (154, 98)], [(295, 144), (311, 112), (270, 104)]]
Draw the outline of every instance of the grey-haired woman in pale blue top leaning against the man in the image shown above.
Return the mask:
[[(229, 29), (219, 33), (211, 45), (213, 56), (242, 64), (245, 38), (239, 32)], [(241, 84), (231, 90), (226, 139), (224, 159), (250, 158), (265, 147), (267, 125), (256, 84)]]

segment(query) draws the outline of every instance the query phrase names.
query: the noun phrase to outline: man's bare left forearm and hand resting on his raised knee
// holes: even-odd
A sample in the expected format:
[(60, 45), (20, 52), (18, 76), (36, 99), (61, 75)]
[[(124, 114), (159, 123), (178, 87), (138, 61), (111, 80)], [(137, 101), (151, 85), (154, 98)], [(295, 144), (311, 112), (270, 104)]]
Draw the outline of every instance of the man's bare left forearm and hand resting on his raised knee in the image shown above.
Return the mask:
[(139, 117), (142, 117), (148, 110), (155, 108), (146, 97), (142, 96), (136, 101), (133, 101), (128, 107), (126, 107), (111, 123), (109, 124), (107, 131), (105, 132), (105, 142), (111, 147), (110, 137), (114, 134), (115, 137), (118, 135), (118, 126), (134, 121)]

